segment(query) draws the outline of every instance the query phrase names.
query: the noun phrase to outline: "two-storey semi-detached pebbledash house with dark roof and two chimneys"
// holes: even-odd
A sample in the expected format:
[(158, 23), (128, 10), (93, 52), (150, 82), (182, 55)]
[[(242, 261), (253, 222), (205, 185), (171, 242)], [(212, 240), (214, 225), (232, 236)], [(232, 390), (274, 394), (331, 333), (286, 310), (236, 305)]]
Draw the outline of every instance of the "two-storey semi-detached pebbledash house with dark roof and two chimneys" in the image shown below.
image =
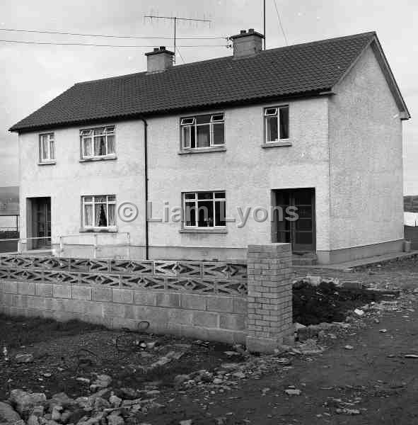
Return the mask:
[(401, 251), (410, 113), (376, 33), (262, 38), (244, 30), (232, 56), (175, 66), (154, 49), (146, 72), (75, 84), (13, 125), (21, 236), (80, 256), (100, 237), (123, 256), (129, 234), (138, 259), (243, 259), (268, 242), (319, 263)]

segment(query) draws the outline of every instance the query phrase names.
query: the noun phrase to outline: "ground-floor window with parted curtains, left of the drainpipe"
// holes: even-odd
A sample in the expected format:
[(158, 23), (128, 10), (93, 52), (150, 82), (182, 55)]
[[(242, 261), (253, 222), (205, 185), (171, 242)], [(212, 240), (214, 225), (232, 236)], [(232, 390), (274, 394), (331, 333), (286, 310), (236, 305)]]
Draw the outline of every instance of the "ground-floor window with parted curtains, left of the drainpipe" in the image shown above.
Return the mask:
[(108, 229), (116, 226), (115, 195), (82, 196), (82, 227)]

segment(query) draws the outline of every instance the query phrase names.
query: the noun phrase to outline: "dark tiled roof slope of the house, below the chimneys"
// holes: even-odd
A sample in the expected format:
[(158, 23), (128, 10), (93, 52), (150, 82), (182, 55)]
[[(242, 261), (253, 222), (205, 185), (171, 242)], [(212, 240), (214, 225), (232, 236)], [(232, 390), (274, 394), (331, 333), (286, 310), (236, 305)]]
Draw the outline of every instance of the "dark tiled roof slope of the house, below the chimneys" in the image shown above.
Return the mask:
[(193, 62), (154, 74), (86, 81), (64, 91), (11, 131), (326, 91), (374, 37), (376, 33), (363, 33), (265, 50), (252, 57)]

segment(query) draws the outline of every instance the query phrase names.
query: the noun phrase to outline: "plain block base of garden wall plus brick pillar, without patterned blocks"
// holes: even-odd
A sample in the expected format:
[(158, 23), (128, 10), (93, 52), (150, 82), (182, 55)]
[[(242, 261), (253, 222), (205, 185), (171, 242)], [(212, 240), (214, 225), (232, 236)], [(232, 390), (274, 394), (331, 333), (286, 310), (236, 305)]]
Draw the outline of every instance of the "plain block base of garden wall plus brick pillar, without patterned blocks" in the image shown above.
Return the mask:
[(289, 344), (293, 334), (291, 248), (248, 246), (248, 295), (4, 278), (0, 312), (81, 319), (114, 329), (137, 329), (146, 320), (157, 334), (246, 344), (249, 351), (269, 353)]

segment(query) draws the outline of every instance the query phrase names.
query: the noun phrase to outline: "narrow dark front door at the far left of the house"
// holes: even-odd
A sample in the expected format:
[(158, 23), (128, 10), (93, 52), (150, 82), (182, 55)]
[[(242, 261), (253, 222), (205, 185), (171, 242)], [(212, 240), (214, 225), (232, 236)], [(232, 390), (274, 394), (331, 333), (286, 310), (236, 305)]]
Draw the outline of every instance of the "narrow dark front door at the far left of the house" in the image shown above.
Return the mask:
[[(32, 249), (45, 249), (51, 247), (51, 198), (31, 198), (33, 238), (28, 246)], [(28, 232), (29, 234), (29, 232)], [(30, 242), (30, 241), (28, 241)]]

